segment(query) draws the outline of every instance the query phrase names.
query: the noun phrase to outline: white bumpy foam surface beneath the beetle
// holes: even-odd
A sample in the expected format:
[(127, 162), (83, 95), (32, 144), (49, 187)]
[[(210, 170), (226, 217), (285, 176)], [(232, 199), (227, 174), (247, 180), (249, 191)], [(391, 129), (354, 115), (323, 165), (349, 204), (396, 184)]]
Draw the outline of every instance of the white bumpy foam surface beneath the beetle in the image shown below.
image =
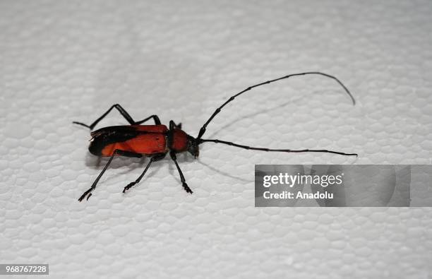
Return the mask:
[[(427, 278), (429, 208), (254, 208), (254, 164), (431, 163), (431, 1), (1, 1), (0, 260), (52, 278)], [(208, 143), (198, 160), (88, 154), (90, 123), (119, 102)], [(124, 124), (113, 112), (101, 123)]]

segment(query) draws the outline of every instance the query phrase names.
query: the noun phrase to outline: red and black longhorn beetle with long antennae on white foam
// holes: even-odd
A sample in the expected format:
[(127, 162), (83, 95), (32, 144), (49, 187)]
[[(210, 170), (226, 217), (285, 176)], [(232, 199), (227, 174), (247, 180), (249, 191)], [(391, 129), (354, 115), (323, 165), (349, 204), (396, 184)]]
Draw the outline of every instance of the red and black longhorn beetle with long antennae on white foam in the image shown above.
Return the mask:
[[(337, 81), (337, 83), (339, 83), (342, 86), (342, 88), (344, 88), (344, 91), (351, 98), (353, 105), (355, 105), (356, 102), (354, 100), (354, 97), (349, 92), (348, 88), (339, 79), (335, 78), (335, 76), (330, 76), (327, 73), (311, 71), (311, 72), (304, 72), (304, 73), (292, 73), (287, 76), (282, 76), (281, 78), (275, 78), (270, 81), (258, 83), (256, 85), (249, 86), (248, 88), (242, 90), (236, 95), (233, 95), (232, 97), (229, 97), (229, 99), (226, 102), (224, 102), (220, 107), (218, 107), (215, 110), (215, 112), (213, 112), (213, 114), (210, 116), (210, 118), (207, 121), (205, 121), (205, 124), (203, 124), (203, 126), (200, 128), (200, 131), (196, 138), (185, 133), (181, 129), (181, 124), (177, 125), (172, 120), (169, 121), (169, 127), (162, 125), (159, 117), (157, 117), (157, 115), (155, 114), (143, 120), (134, 121), (133, 118), (128, 114), (128, 112), (126, 112), (126, 110), (123, 107), (121, 107), (121, 105), (119, 104), (112, 105), (112, 107), (110, 107), (107, 110), (107, 112), (102, 114), (101, 117), (96, 119), (90, 125), (83, 124), (78, 121), (73, 121), (74, 124), (85, 126), (88, 129), (90, 129), (90, 131), (92, 131), (92, 129), (95, 128), (95, 126), (99, 123), (99, 121), (101, 121), (104, 117), (106, 117), (107, 114), (109, 114), (109, 112), (111, 112), (112, 109), (115, 108), (129, 123), (129, 125), (123, 125), (123, 126), (104, 127), (102, 129), (98, 129), (97, 131), (92, 131), (90, 133), (90, 136), (92, 136), (92, 139), (90, 140), (90, 146), (88, 148), (90, 153), (96, 156), (109, 157), (109, 160), (107, 164), (104, 166), (102, 172), (100, 172), (100, 174), (95, 179), (95, 182), (93, 182), (92, 186), (90, 186), (90, 189), (85, 191), (80, 196), (80, 198), (78, 198), (78, 201), (83, 201), (85, 197), (87, 197), (88, 199), (90, 198), (90, 196), (92, 196), (92, 191), (96, 188), (97, 182), (99, 182), (100, 178), (107, 170), (109, 164), (111, 164), (112, 159), (115, 156), (126, 156), (126, 157), (135, 157), (135, 158), (141, 158), (143, 156), (150, 157), (150, 162), (148, 162), (148, 165), (145, 166), (145, 169), (140, 174), (138, 179), (126, 185), (123, 189), (123, 193), (125, 193), (128, 189), (131, 189), (133, 185), (138, 184), (138, 182), (140, 182), (140, 180), (144, 177), (145, 172), (147, 172), (152, 162), (162, 160), (167, 155), (167, 153), (169, 153), (169, 156), (174, 161), (177, 171), (179, 172), (181, 184), (184, 190), (190, 194), (192, 194), (193, 191), (191, 190), (191, 188), (189, 188), (188, 184), (186, 183), (184, 174), (183, 172), (181, 172), (179, 163), (177, 162), (176, 154), (188, 151), (188, 153), (191, 153), (191, 155), (193, 155), (196, 158), (199, 155), (198, 146), (206, 142), (222, 143), (228, 146), (234, 146), (237, 148), (244, 148), (248, 150), (287, 152), (287, 153), (316, 152), (316, 153), (333, 153), (333, 154), (345, 155), (345, 156), (357, 156), (356, 153), (343, 153), (339, 151), (324, 150), (324, 149), (290, 150), (290, 149), (256, 148), (251, 146), (244, 146), (238, 143), (232, 143), (229, 141), (202, 138), (205, 133), (205, 129), (207, 128), (210, 121), (212, 121), (212, 119), (215, 118), (215, 116), (220, 113), (223, 107), (228, 105), (229, 102), (232, 102), (239, 95), (246, 93), (247, 91), (256, 88), (260, 85), (273, 83), (275, 81), (280, 81), (286, 78), (290, 78), (292, 76), (305, 76), (305, 75), (320, 75), (320, 76), (325, 76), (327, 78), (332, 78), (333, 80)], [(149, 121), (150, 119), (152, 119), (155, 122), (154, 125), (142, 125), (143, 123)]]

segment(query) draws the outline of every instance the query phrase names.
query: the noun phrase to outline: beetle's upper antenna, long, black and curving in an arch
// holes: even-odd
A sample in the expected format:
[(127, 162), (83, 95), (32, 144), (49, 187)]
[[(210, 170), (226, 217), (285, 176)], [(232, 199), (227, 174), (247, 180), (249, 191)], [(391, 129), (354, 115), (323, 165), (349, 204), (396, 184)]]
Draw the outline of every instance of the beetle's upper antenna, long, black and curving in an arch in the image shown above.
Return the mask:
[[(327, 73), (321, 73), (321, 72), (292, 73), (292, 74), (290, 74), (290, 75), (288, 75), (288, 76), (282, 76), (282, 78), (276, 78), (276, 79), (273, 79), (273, 80), (271, 80), (271, 81), (265, 81), (265, 82), (263, 82), (263, 83), (258, 83), (258, 84), (256, 84), (256, 85), (249, 86), (249, 87), (246, 88), (245, 90), (243, 90), (243, 91), (237, 93), (236, 95), (230, 97), (226, 102), (224, 102), (220, 107), (218, 107), (218, 108), (215, 110), (215, 112), (213, 112), (212, 116), (211, 116), (211, 117), (210, 117), (210, 118), (205, 122), (205, 124), (201, 127), (200, 132), (198, 133), (198, 136), (197, 136), (196, 138), (199, 140), (199, 139), (203, 136), (203, 134), (205, 133), (205, 128), (207, 128), (207, 125), (210, 123), (210, 121), (212, 121), (212, 119), (215, 118), (215, 116), (216, 116), (216, 115), (221, 111), (221, 109), (222, 109), (224, 106), (226, 106), (229, 102), (232, 102), (232, 101), (234, 100), (235, 97), (237, 97), (237, 96), (239, 96), (239, 95), (245, 93), (245, 92), (248, 91), (248, 90), (251, 90), (252, 88), (256, 88), (256, 87), (258, 87), (258, 86), (260, 86), (260, 85), (265, 85), (265, 84), (272, 83), (272, 82), (275, 82), (275, 81), (280, 81), (280, 80), (282, 80), (282, 79), (290, 78), (290, 77), (292, 77), (292, 76), (305, 76), (305, 75), (320, 75), (320, 76), (326, 76), (326, 77), (328, 77), (328, 78), (332, 78), (332, 79), (334, 79), (335, 81), (337, 81), (337, 83), (339, 83), (339, 84), (342, 86), (342, 88), (344, 88), (345, 92), (349, 95), (349, 97), (350, 97), (351, 100), (352, 100), (352, 105), (356, 105), (356, 100), (354, 100), (354, 97), (352, 97), (352, 94), (349, 92), (348, 88), (347, 88), (347, 87), (346, 87), (346, 86), (345, 86), (345, 85), (344, 85), (340, 80), (338, 80), (335, 76), (330, 76), (330, 75), (328, 75)], [(303, 152), (304, 152), (304, 151), (303, 151)]]

